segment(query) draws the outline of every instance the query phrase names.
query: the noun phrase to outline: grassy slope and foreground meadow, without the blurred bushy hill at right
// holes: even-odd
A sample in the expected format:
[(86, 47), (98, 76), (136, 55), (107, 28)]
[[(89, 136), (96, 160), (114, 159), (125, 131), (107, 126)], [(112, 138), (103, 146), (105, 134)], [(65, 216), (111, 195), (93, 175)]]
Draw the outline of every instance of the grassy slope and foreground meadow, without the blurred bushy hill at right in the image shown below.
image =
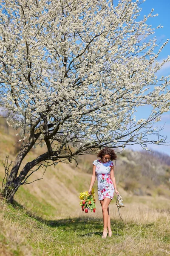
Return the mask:
[[(2, 140), (4, 160), (5, 154), (14, 151), (14, 140), (11, 137), (2, 137)], [(27, 160), (32, 160), (36, 152), (31, 152)], [(92, 160), (89, 159), (89, 163), (85, 160), (81, 160), (77, 169), (74, 164), (58, 164), (56, 169), (49, 167), (44, 183), (37, 181), (21, 186), (13, 205), (0, 199), (0, 256), (170, 255), (170, 204), (168, 198), (164, 198), (164, 187), (156, 187), (152, 197), (135, 196), (122, 189), (125, 208), (120, 212), (125, 223), (119, 218), (114, 196), (109, 206), (113, 236), (102, 239), (99, 202), (95, 214), (79, 213), (79, 192), (89, 188), (91, 179), (88, 172), (91, 172)], [(3, 176), (0, 162), (0, 183)], [(51, 180), (54, 182), (50, 183)], [(53, 189), (60, 184), (61, 190)], [(120, 184), (121, 189), (124, 185)], [(96, 184), (94, 188), (97, 199)], [(158, 197), (159, 194), (163, 196)]]

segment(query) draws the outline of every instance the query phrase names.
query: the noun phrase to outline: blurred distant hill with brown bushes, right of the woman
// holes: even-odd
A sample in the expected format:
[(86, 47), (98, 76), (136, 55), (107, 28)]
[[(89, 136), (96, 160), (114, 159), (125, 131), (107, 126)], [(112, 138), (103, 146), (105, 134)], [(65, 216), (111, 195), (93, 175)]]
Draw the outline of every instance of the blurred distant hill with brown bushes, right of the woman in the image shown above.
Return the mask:
[(158, 152), (125, 150), (116, 161), (118, 181), (136, 195), (170, 198), (170, 165), (166, 158)]

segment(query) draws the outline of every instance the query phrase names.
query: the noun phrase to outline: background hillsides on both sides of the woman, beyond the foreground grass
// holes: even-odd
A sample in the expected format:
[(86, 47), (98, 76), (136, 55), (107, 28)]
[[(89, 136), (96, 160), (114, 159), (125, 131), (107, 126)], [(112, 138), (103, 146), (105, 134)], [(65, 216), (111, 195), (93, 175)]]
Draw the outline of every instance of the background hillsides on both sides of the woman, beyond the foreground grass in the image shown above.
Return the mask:
[[(4, 127), (4, 126), (2, 126)], [(4, 131), (3, 131), (4, 130)], [(8, 155), (9, 160), (14, 160), (18, 150), (18, 143), (15, 136), (16, 131), (12, 128), (0, 131), (0, 159), (5, 160)], [(23, 163), (30, 161), (38, 154), (42, 154), (46, 148), (37, 147), (31, 150)], [(124, 196), (164, 196), (170, 199), (170, 166), (167, 161), (163, 162), (163, 157), (147, 151), (125, 150), (117, 154), (115, 163), (115, 176), (117, 186)], [(91, 180), (92, 162), (96, 155), (84, 155), (77, 158), (76, 163), (59, 163), (57, 166), (50, 166), (45, 171), (39, 169), (31, 175), (28, 182), (42, 178), (29, 185), (21, 186), (15, 200), (37, 214), (37, 207), (40, 207), (39, 215), (42, 218), (56, 218), (56, 215), (75, 215), (79, 212), (79, 192), (88, 190)], [(167, 160), (167, 158), (166, 158)], [(3, 164), (0, 162), (0, 180), (4, 176)], [(95, 189), (96, 189), (95, 183)], [(29, 198), (29, 200), (27, 200)], [(34, 201), (37, 201), (36, 206)], [(70, 202), (72, 202), (70, 204)], [(43, 205), (43, 207), (42, 207)], [(64, 205), (64, 208), (62, 207)], [(50, 212), (50, 215), (49, 215)], [(73, 213), (72, 213), (73, 212)]]

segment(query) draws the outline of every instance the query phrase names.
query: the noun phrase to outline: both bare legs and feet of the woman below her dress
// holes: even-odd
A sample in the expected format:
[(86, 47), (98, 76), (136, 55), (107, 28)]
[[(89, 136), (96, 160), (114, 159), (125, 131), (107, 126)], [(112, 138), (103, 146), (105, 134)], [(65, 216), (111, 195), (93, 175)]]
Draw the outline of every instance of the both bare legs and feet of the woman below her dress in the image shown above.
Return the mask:
[(102, 205), (102, 213), (103, 213), (103, 236), (102, 238), (106, 238), (107, 236), (107, 227), (108, 227), (108, 231), (109, 233), (111, 233), (111, 219), (110, 219), (110, 215), (109, 215), (109, 204), (111, 202), (110, 198), (104, 198), (104, 200), (100, 200), (100, 204)]

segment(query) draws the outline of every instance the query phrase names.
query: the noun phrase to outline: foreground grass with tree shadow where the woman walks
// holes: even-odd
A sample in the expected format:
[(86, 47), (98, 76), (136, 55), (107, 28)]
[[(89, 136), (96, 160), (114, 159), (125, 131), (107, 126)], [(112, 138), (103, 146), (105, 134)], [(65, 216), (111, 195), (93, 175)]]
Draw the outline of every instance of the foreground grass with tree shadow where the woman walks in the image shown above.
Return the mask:
[[(102, 218), (84, 212), (74, 218), (45, 220), (31, 215), (16, 202), (10, 205), (2, 200), (0, 212), (0, 243), (6, 252), (4, 255), (170, 254), (170, 219), (166, 213), (157, 214), (153, 220), (150, 214), (147, 220), (125, 220), (125, 223), (112, 218), (113, 236), (102, 239)], [(131, 215), (136, 214), (133, 212)]]

